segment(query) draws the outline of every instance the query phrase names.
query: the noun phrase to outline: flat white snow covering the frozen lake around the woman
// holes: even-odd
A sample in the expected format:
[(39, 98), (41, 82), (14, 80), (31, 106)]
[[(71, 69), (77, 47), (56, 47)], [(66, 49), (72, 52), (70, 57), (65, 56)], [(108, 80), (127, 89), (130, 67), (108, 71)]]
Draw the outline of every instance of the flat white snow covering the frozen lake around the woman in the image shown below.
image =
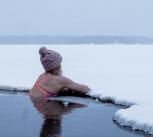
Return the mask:
[[(43, 72), (41, 46), (0, 45), (0, 87), (31, 88)], [(62, 54), (64, 75), (89, 85), (92, 97), (130, 106), (114, 120), (153, 134), (153, 45), (45, 46)]]

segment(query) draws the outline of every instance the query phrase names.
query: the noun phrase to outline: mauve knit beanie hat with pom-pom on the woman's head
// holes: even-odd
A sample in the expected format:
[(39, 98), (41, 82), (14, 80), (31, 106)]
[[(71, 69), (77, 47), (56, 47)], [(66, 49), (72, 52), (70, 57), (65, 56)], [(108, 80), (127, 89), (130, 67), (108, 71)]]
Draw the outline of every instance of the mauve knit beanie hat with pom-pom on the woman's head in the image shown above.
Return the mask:
[(61, 65), (62, 57), (59, 53), (53, 50), (48, 50), (46, 47), (39, 49), (40, 61), (45, 71), (54, 70)]

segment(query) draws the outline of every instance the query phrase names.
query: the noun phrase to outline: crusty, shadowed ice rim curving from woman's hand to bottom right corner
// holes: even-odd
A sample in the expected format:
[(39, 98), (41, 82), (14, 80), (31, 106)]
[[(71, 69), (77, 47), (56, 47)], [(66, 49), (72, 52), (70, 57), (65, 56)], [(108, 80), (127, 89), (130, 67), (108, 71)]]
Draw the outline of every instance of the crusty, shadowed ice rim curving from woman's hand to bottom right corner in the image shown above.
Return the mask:
[(136, 102), (128, 102), (126, 100), (119, 100), (113, 96), (106, 96), (101, 94), (95, 94), (94, 92), (90, 92), (89, 97), (99, 100), (103, 103), (111, 103), (114, 105), (121, 105), (125, 106), (125, 109), (118, 110), (113, 117), (113, 121), (115, 121), (117, 124), (119, 124), (121, 127), (129, 127), (131, 130), (134, 131), (140, 131), (149, 135), (153, 135), (153, 125), (147, 124), (145, 122), (138, 123), (137, 121), (127, 119), (126, 116), (124, 116), (124, 113), (122, 111), (129, 111), (132, 110), (134, 106), (141, 106), (137, 104)]

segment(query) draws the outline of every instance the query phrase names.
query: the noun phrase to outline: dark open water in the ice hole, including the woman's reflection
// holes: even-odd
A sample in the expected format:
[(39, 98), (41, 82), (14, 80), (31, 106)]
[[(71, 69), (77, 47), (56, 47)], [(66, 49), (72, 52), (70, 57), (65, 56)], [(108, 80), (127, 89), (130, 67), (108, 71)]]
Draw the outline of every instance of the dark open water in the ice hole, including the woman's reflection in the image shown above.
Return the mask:
[[(89, 99), (31, 100), (25, 95), (0, 96), (0, 137), (138, 137), (112, 120), (120, 109)], [(78, 102), (81, 103), (78, 103)]]

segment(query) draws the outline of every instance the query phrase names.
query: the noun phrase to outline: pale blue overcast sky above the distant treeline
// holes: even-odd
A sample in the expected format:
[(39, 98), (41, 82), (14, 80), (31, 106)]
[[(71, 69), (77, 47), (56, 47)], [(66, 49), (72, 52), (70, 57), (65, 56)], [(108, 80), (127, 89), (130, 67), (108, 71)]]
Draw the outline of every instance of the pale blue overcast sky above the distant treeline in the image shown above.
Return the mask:
[(153, 37), (153, 0), (0, 0), (0, 35)]

